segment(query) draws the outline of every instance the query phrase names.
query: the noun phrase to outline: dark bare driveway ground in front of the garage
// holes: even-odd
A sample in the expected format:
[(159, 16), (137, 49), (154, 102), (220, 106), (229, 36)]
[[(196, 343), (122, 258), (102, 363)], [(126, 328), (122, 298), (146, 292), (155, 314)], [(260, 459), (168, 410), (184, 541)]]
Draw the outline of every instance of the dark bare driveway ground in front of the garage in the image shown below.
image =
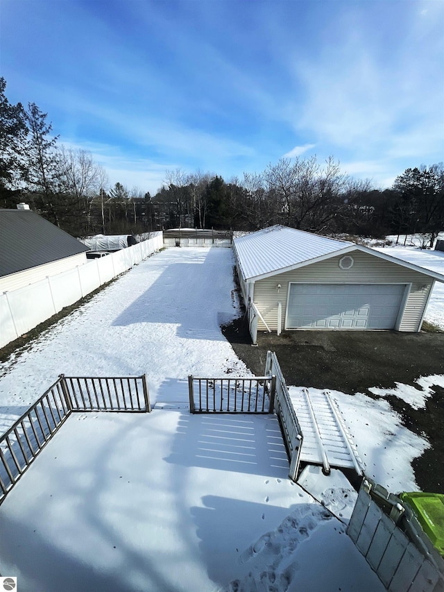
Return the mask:
[[(238, 319), (224, 335), (255, 374), (264, 372), (266, 351), (275, 351), (287, 383), (295, 386), (375, 397), (368, 388), (395, 387), (395, 382), (418, 387), (420, 376), (444, 374), (444, 333), (291, 331), (278, 337), (267, 332), (258, 335), (256, 347), (246, 323)], [(425, 409), (412, 409), (395, 396), (387, 399), (404, 425), (427, 434), (431, 444), (413, 462), (419, 487), (444, 493), (444, 389), (434, 391)]]

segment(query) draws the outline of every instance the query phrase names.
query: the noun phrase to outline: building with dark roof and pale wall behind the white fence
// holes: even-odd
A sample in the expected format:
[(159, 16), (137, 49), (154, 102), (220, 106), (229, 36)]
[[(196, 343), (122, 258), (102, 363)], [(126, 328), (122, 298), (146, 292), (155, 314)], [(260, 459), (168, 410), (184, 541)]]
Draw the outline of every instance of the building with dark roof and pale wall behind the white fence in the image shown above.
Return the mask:
[(88, 250), (24, 203), (0, 210), (0, 294), (83, 265)]

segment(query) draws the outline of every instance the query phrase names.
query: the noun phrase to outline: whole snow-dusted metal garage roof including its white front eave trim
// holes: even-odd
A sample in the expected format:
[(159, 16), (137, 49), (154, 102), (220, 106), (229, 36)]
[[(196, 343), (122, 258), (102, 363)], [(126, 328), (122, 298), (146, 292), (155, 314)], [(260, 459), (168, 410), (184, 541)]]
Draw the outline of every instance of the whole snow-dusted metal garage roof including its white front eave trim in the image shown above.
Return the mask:
[(277, 273), (305, 267), (337, 255), (345, 255), (350, 251), (361, 251), (444, 283), (441, 273), (380, 253), (373, 248), (314, 235), (287, 226), (271, 226), (234, 239), (234, 249), (241, 273), (247, 282), (275, 276)]

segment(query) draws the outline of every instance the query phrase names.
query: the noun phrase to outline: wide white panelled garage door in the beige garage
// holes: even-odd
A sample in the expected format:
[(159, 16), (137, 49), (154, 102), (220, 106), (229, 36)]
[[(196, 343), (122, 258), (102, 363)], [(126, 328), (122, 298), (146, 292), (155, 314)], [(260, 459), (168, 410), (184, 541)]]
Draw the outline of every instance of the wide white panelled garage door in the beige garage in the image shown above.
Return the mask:
[(291, 284), (288, 329), (393, 329), (405, 285)]

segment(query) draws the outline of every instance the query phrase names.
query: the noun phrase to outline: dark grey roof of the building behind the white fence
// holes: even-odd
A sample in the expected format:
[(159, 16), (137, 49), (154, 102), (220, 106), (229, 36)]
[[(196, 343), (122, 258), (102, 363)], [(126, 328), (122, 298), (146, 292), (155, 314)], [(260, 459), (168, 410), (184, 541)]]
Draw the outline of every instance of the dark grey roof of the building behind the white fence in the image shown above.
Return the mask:
[(31, 210), (0, 209), (0, 276), (89, 251)]

